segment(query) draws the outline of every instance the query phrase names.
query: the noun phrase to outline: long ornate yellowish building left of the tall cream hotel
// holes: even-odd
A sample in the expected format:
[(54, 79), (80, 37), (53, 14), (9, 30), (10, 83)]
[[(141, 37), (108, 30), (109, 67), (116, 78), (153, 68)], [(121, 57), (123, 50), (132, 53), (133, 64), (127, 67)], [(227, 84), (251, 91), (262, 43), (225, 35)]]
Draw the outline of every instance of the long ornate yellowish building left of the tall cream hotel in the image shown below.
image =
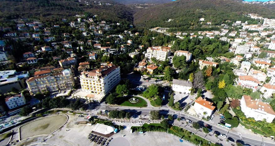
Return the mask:
[(70, 90), (75, 85), (71, 69), (64, 69), (61, 73), (36, 76), (26, 81), (29, 93), (58, 92)]

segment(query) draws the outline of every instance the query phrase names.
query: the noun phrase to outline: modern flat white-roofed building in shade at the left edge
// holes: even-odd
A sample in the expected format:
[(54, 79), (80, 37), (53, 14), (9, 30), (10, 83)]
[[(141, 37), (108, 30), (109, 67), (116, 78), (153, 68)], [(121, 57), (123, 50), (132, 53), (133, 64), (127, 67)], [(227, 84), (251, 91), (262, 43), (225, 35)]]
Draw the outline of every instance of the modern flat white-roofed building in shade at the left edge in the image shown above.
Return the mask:
[(8, 93), (12, 87), (25, 88), (25, 81), (29, 78), (29, 72), (16, 72), (16, 70), (0, 71), (0, 92)]

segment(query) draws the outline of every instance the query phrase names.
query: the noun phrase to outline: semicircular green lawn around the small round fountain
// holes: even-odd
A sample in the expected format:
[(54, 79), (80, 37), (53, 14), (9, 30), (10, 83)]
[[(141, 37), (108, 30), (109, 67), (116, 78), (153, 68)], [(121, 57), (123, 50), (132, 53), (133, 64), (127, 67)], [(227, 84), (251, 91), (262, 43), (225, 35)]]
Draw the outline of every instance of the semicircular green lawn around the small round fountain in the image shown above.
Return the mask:
[(133, 98), (133, 97), (122, 98), (119, 101), (118, 105), (130, 106), (130, 107), (147, 107), (147, 102), (144, 99), (134, 96), (134, 98), (138, 99), (138, 102), (137, 103), (131, 103), (130, 98)]

